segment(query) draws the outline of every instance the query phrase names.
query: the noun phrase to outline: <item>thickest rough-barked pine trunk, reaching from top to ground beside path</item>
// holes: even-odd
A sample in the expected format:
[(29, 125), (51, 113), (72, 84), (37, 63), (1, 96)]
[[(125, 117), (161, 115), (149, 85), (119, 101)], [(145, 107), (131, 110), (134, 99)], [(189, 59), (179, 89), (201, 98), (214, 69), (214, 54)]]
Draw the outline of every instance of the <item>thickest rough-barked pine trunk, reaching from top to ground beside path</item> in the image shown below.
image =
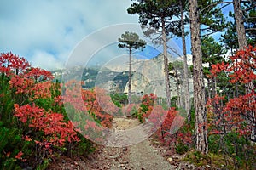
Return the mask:
[(205, 88), (202, 72), (202, 54), (200, 37), (200, 20), (198, 4), (196, 0), (189, 0), (189, 17), (191, 46), (193, 54), (193, 84), (195, 106), (195, 149), (202, 154), (208, 152), (207, 141), (207, 114), (205, 102)]

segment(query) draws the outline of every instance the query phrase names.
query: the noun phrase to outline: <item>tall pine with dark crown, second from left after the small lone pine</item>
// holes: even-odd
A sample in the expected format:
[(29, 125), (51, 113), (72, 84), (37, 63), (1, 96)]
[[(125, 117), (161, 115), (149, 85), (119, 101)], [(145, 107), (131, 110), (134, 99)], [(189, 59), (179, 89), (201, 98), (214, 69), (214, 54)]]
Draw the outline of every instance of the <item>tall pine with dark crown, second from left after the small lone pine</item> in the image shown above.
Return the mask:
[(167, 41), (173, 35), (181, 36), (180, 20), (175, 20), (175, 16), (180, 14), (178, 3), (167, 0), (145, 0), (139, 3), (132, 3), (127, 11), (129, 14), (138, 14), (139, 23), (146, 30), (144, 34), (151, 37), (153, 42), (160, 43), (163, 46), (166, 100), (167, 105), (170, 107), (171, 93), (168, 74)]

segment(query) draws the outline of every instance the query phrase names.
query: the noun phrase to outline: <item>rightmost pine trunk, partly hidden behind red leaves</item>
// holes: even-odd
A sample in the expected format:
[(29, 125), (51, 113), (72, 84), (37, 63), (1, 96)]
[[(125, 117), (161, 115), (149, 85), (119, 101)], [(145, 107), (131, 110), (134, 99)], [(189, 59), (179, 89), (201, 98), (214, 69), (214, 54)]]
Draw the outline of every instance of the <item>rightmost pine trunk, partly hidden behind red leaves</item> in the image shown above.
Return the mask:
[[(239, 49), (244, 49), (245, 47), (247, 47), (248, 44), (247, 44), (246, 31), (243, 24), (240, 0), (234, 0), (234, 13), (235, 13), (235, 20), (236, 20), (236, 31), (237, 31)], [(253, 82), (248, 82), (245, 85), (245, 88), (246, 88), (246, 94), (250, 94), (254, 89)], [(255, 112), (249, 113), (249, 115), (252, 115), (253, 117), (255, 117)], [(255, 119), (254, 119), (254, 122), (256, 122)], [(253, 141), (256, 141), (256, 124), (253, 123), (251, 128), (252, 128), (251, 139)]]

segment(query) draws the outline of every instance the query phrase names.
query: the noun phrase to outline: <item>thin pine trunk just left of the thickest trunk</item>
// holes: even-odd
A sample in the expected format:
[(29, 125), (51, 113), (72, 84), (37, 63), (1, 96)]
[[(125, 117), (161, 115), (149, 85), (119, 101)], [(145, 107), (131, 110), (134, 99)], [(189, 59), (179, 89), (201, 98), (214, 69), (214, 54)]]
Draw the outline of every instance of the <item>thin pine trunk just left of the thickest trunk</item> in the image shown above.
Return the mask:
[(185, 110), (188, 116), (188, 122), (191, 120), (190, 112), (190, 96), (189, 96), (189, 72), (188, 72), (188, 61), (187, 61), (187, 50), (186, 50), (186, 40), (185, 40), (185, 27), (184, 27), (184, 16), (183, 16), (183, 1), (179, 2), (179, 7), (181, 11), (181, 31), (182, 31), (182, 40), (183, 40), (183, 69), (184, 69), (184, 101), (185, 101)]

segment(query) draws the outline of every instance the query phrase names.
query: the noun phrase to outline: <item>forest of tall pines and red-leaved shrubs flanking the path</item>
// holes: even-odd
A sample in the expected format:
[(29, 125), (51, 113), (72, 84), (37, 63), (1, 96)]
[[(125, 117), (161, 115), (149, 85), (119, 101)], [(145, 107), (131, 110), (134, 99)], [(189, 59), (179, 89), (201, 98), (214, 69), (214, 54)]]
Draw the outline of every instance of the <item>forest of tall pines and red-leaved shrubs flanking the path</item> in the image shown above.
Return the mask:
[[(232, 10), (224, 13), (225, 8)], [(120, 35), (117, 47), (128, 49), (130, 56), (129, 71), (115, 77), (127, 83), (126, 94), (108, 93), (94, 82), (65, 82), (19, 54), (1, 52), (0, 169), (114, 169), (90, 159), (103, 156), (102, 150), (115, 150), (108, 148), (114, 144), (105, 142), (115, 132), (111, 129), (124, 126), (125, 122), (119, 125), (120, 118), (150, 128), (145, 140), (164, 150), (164, 160), (174, 166), (166, 168), (178, 169), (177, 164), (189, 162), (193, 169), (255, 169), (256, 3), (142, 0), (131, 1), (127, 14), (137, 15), (144, 36), (162, 48), (166, 97), (132, 96), (131, 55), (146, 45), (133, 32)], [(182, 62), (167, 58), (172, 38), (183, 44)], [(93, 73), (92, 78), (98, 74), (86, 71)], [(172, 78), (180, 91), (175, 97), (171, 97)], [(137, 131), (140, 135), (144, 138)], [(128, 145), (119, 148), (122, 156), (132, 150)], [(77, 167), (60, 166), (68, 160)], [(123, 164), (131, 166), (128, 161)]]

